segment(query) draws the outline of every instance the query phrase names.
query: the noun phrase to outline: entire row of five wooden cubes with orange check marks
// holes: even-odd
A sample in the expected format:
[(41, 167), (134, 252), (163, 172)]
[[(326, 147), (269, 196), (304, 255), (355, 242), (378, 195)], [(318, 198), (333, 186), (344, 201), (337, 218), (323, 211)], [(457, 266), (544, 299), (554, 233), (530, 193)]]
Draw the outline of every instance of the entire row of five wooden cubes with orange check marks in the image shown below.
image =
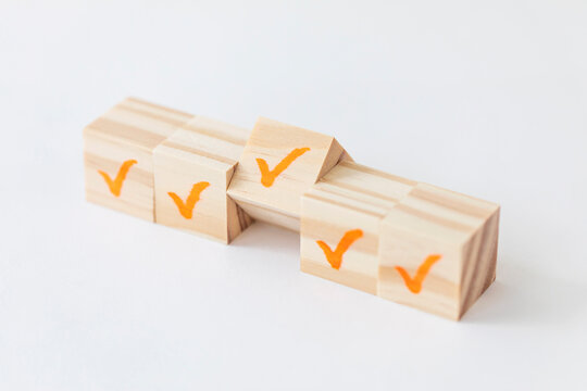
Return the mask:
[(84, 140), (91, 202), (225, 243), (286, 227), (302, 272), (453, 319), (495, 280), (498, 205), (354, 163), (333, 137), (129, 98)]

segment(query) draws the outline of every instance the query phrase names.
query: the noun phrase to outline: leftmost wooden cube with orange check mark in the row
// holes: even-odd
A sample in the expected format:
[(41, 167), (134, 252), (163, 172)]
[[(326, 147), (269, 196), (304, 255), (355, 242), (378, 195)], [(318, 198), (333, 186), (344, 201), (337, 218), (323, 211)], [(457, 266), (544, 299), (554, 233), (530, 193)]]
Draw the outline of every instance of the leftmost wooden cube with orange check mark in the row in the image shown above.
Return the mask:
[(153, 212), (153, 149), (192, 116), (128, 98), (84, 129), (86, 198), (147, 220)]

